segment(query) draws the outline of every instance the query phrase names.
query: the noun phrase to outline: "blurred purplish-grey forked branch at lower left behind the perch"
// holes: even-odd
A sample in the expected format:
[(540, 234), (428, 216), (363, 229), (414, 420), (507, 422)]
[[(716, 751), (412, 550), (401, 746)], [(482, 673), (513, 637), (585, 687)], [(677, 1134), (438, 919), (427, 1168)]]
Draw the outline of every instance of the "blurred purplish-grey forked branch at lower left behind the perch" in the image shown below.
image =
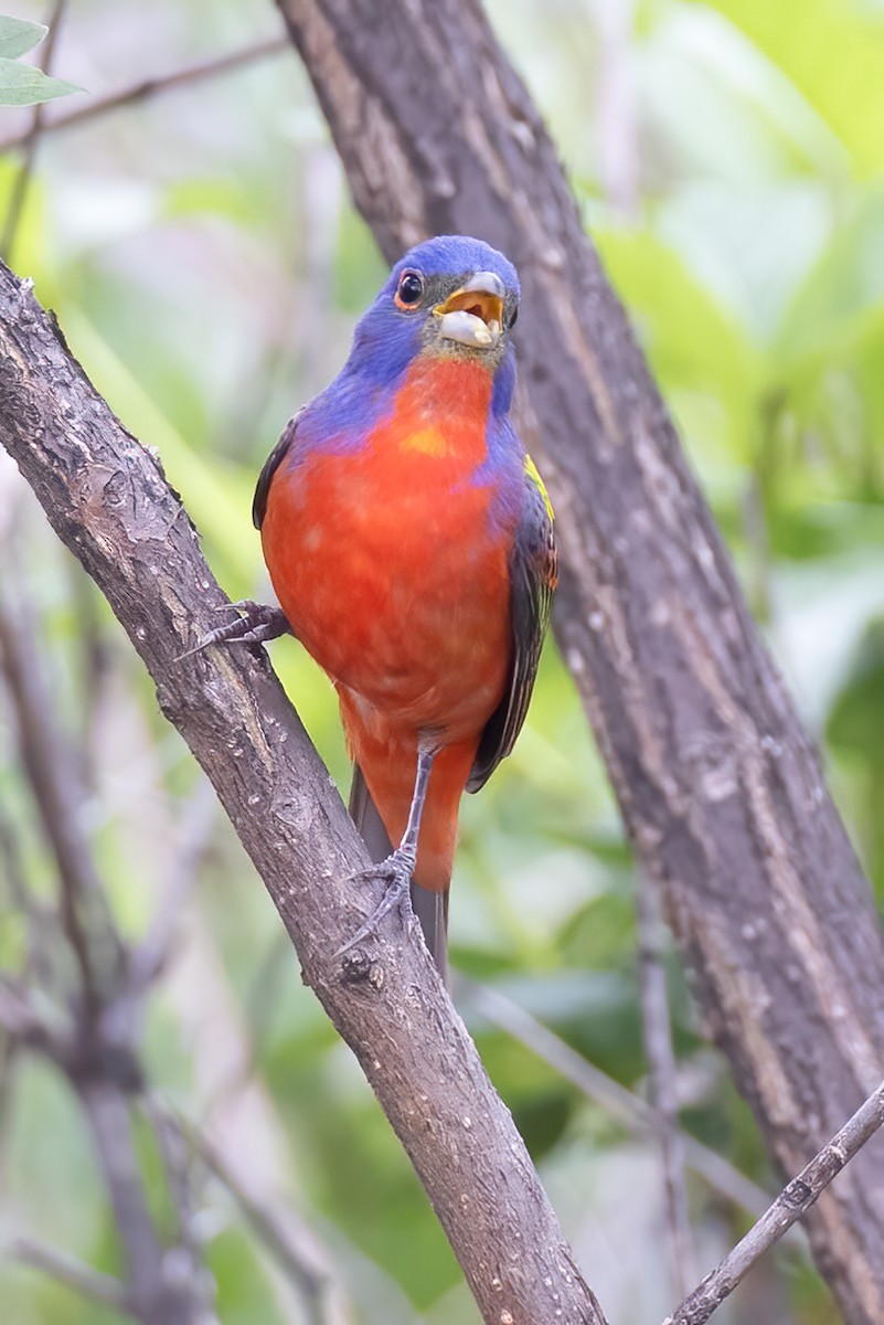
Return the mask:
[[(9, 545), (7, 538), (4, 563), (16, 570)], [(16, 580), (16, 575), (8, 578), (7, 598), (0, 599), (0, 669), (17, 719), (22, 765), (61, 885), (60, 909), (45, 917), (40, 942), (48, 947), (64, 931), (75, 954), (78, 984), (61, 991), (64, 1006), (54, 1008), (44, 987), (0, 979), (0, 1024), (11, 1044), (38, 1049), (69, 1077), (91, 1122), (127, 1253), (126, 1310), (142, 1325), (209, 1325), (214, 1318), (197, 1297), (205, 1277), (199, 1273), (193, 1248), (184, 1238), (176, 1247), (164, 1248), (148, 1208), (128, 1114), (128, 1096), (142, 1085), (134, 1040), (143, 986), (139, 988), (131, 978), (128, 954), (82, 828), (81, 770), (53, 713), (26, 600), (21, 596), (13, 603), (9, 596), (8, 586)], [(17, 888), (24, 888), (24, 880), (17, 881)], [(151, 937), (152, 954), (163, 935), (155, 930)], [(185, 1211), (179, 1214), (185, 1230)], [(70, 1269), (57, 1255), (56, 1272), (64, 1265)], [(101, 1283), (101, 1276), (90, 1280), (91, 1296)]]

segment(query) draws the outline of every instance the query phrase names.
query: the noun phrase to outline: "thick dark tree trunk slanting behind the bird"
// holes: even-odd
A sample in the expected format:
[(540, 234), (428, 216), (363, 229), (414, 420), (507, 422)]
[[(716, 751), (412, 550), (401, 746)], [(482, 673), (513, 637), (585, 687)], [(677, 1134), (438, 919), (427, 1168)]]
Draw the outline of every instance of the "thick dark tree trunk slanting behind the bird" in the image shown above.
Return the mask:
[[(479, 235), (524, 289), (556, 616), (621, 808), (772, 1155), (797, 1171), (884, 1063), (884, 945), (819, 759), (554, 148), (478, 0), (278, 0), (389, 260)], [(852, 1325), (884, 1320), (884, 1145), (807, 1219)]]

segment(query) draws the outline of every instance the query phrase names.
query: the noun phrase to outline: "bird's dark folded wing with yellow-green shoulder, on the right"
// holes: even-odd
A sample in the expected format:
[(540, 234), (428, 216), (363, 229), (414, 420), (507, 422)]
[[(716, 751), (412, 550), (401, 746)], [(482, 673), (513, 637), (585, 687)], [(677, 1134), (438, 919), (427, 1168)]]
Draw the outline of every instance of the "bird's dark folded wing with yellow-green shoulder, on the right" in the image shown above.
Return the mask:
[(516, 743), (537, 677), (556, 583), (552, 505), (533, 461), (525, 456), (525, 501), (509, 554), (509, 681), (482, 733), (467, 791), (483, 787)]

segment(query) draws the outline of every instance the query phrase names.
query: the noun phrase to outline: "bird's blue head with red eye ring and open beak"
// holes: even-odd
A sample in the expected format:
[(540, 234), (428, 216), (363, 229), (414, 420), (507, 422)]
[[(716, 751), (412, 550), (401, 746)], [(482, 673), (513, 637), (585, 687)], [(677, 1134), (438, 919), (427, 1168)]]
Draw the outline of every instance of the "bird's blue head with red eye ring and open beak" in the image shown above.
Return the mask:
[(353, 337), (349, 372), (393, 386), (418, 354), (471, 359), (495, 374), (495, 408), (515, 384), (519, 311), (512, 262), (482, 240), (441, 235), (400, 258)]

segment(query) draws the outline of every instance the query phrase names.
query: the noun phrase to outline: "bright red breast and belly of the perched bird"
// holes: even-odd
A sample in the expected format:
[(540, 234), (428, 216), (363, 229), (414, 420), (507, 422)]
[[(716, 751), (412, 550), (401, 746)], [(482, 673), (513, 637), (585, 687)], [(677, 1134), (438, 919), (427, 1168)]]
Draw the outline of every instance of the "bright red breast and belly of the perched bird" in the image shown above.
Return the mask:
[(273, 481), (262, 539), (281, 607), (367, 723), (463, 739), (502, 697), (511, 539), (472, 481), (484, 449), (484, 413), (435, 424), (423, 392), (360, 450), (312, 452)]

